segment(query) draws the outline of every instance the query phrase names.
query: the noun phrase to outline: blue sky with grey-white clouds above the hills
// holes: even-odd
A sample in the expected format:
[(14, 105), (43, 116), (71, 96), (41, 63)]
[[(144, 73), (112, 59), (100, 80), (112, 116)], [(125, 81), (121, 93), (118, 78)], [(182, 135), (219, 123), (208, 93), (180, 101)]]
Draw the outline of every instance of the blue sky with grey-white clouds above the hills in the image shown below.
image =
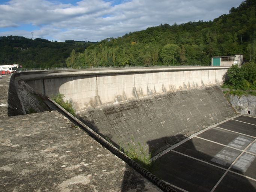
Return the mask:
[(162, 24), (209, 21), (242, 0), (0, 0), (0, 36), (100, 41)]

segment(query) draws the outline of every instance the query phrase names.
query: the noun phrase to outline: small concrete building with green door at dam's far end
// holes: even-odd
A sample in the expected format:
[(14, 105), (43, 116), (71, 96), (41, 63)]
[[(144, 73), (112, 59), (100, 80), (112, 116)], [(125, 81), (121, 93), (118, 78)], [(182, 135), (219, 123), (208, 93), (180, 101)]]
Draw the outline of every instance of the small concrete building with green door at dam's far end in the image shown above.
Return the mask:
[(212, 57), (212, 66), (232, 66), (234, 64), (240, 66), (242, 64), (242, 57), (242, 54)]

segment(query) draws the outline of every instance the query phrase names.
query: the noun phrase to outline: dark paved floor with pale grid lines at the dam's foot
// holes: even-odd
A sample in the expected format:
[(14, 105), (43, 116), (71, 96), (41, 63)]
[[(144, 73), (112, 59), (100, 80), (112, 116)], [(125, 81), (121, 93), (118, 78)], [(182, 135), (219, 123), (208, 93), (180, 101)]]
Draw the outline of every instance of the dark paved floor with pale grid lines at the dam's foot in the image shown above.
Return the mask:
[(183, 192), (256, 191), (256, 117), (238, 115), (164, 151), (155, 174)]

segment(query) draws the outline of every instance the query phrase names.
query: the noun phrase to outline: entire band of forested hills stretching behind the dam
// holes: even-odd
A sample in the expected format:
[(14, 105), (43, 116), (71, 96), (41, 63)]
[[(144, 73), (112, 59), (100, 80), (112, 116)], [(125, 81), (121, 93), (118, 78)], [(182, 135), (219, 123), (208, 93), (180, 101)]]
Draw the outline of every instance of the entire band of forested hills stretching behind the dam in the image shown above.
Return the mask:
[(0, 37), (0, 65), (72, 66), (210, 65), (212, 56), (241, 53), (256, 62), (256, 1), (246, 0), (213, 21), (161, 24), (98, 43)]

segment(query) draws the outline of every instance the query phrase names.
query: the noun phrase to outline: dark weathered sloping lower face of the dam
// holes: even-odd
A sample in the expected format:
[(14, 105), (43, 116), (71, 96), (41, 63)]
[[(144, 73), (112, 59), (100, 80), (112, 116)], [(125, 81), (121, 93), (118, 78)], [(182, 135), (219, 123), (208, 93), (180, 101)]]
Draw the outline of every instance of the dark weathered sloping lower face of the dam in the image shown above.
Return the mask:
[(222, 91), (214, 86), (97, 107), (80, 114), (80, 119), (126, 150), (143, 146), (154, 155), (233, 115)]

